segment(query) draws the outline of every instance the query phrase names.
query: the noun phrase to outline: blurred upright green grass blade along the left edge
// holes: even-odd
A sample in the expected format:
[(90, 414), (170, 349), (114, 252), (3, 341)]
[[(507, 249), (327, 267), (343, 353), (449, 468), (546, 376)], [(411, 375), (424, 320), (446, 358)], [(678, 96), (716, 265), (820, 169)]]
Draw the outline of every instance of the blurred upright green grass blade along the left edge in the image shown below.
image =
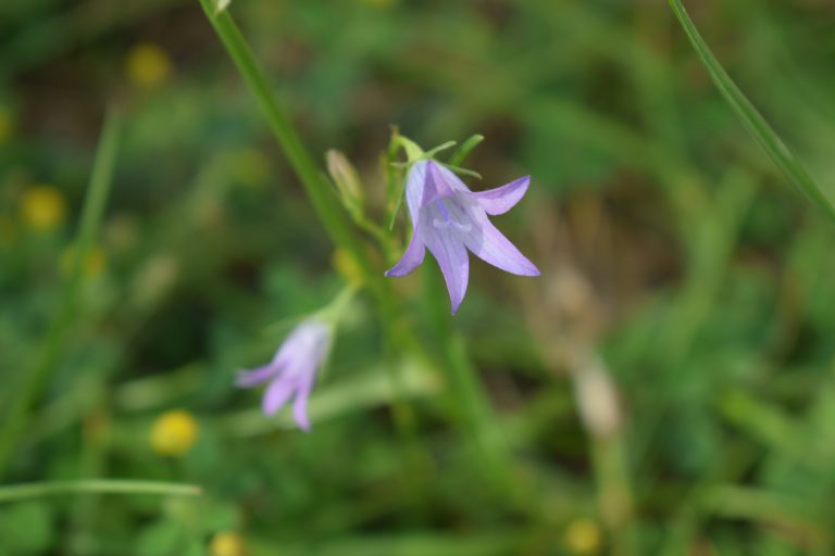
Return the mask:
[(39, 357), (27, 375), (26, 382), (14, 400), (0, 428), (0, 479), (5, 475), (12, 451), (26, 427), (32, 406), (38, 401), (49, 377), (57, 367), (67, 342), (67, 332), (75, 316), (76, 302), (82, 286), (84, 263), (98, 235), (110, 193), (121, 117), (115, 111), (108, 112), (96, 151), (90, 185), (84, 200), (82, 220), (73, 249), (73, 260), (66, 281), (62, 286), (58, 309), (50, 325)]

